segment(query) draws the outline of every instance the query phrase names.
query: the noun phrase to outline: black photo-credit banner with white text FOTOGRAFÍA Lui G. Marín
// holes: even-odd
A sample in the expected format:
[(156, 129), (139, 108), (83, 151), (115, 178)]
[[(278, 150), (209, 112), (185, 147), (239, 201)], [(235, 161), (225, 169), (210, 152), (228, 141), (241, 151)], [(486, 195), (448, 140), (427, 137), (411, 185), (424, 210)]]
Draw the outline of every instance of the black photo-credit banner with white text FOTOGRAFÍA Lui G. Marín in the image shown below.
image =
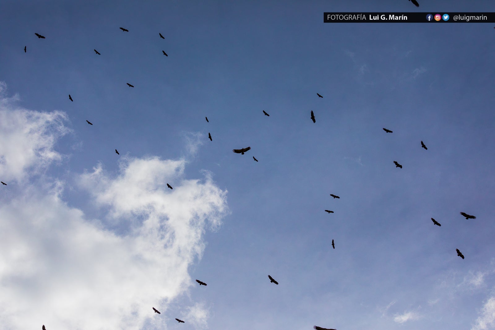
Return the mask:
[(325, 12), (324, 23), (495, 23), (495, 12)]

